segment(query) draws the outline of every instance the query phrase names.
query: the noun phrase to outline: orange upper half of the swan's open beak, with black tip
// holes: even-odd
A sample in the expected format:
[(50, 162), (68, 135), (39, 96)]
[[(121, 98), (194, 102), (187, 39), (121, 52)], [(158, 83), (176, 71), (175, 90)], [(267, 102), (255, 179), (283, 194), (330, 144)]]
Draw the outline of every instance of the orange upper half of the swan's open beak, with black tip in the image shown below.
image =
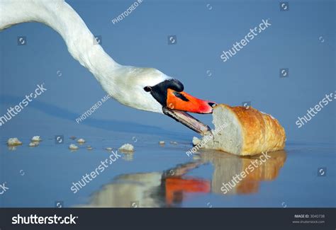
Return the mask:
[(201, 100), (185, 92), (167, 89), (167, 108), (189, 113), (213, 113), (214, 102)]

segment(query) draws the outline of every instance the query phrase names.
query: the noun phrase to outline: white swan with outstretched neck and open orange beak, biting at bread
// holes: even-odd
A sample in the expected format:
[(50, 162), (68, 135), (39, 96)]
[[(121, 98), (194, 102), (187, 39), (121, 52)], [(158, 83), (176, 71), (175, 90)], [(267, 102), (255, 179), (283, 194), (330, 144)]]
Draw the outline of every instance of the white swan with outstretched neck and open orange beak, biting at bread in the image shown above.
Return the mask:
[(118, 64), (96, 44), (82, 18), (64, 0), (0, 0), (0, 30), (30, 21), (57, 31), (72, 57), (119, 103), (168, 115), (199, 134), (210, 130), (189, 113), (212, 113), (215, 103), (189, 95), (179, 80), (157, 69)]

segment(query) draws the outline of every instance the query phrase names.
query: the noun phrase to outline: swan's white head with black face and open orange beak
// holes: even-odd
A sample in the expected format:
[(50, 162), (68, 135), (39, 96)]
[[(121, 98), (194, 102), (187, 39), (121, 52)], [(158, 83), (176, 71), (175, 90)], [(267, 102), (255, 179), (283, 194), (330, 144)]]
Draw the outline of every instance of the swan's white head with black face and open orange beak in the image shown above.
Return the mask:
[[(108, 88), (105, 89), (108, 91)], [(113, 77), (110, 94), (124, 105), (164, 113), (201, 134), (210, 130), (186, 112), (212, 113), (215, 103), (184, 92), (180, 81), (157, 69), (122, 67), (117, 77)]]

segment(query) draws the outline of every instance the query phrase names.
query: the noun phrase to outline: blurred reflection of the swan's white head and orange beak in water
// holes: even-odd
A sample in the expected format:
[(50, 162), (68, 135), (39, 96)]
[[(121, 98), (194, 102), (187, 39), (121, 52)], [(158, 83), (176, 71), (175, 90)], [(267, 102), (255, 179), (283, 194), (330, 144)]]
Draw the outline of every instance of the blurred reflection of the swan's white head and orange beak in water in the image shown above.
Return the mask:
[(130, 173), (103, 185), (84, 207), (165, 207), (178, 205), (184, 192), (209, 192), (207, 180), (181, 178), (200, 162), (185, 163), (162, 172)]

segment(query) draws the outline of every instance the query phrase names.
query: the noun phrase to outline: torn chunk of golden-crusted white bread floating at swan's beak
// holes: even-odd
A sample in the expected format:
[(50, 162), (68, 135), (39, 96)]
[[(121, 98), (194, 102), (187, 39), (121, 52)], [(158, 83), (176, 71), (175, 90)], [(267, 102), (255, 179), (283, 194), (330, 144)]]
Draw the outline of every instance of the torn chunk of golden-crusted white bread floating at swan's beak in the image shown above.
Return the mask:
[[(284, 149), (285, 130), (271, 115), (252, 107), (219, 104), (213, 109), (215, 130), (193, 139), (198, 148), (217, 149), (239, 156)], [(198, 149), (197, 148), (197, 149)]]

